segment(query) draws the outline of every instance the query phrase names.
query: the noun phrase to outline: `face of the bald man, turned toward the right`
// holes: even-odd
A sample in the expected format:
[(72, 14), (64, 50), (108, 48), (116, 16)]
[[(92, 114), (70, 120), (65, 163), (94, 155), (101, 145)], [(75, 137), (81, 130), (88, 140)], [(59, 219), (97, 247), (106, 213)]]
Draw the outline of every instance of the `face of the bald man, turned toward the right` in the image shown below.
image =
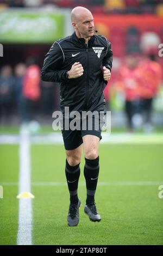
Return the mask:
[(94, 22), (92, 14), (80, 15), (80, 18), (76, 23), (74, 23), (74, 28), (76, 28), (77, 33), (83, 38), (90, 38), (94, 35)]

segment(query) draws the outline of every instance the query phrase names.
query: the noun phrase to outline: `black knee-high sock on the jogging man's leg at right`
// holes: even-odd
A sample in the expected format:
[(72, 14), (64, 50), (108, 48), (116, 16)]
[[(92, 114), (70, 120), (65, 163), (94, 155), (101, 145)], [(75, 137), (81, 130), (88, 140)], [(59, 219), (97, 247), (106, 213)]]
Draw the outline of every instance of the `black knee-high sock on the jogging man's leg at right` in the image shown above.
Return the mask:
[(86, 159), (84, 166), (84, 176), (86, 180), (86, 204), (95, 203), (95, 192), (99, 174), (99, 156), (97, 159)]

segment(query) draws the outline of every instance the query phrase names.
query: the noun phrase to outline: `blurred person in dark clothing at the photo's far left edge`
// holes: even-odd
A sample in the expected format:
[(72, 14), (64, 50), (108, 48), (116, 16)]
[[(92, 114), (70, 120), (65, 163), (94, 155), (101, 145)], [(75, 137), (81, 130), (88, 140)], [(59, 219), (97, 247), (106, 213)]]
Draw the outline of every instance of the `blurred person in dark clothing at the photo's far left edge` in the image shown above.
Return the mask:
[(0, 120), (5, 115), (7, 123), (10, 122), (13, 100), (14, 77), (11, 66), (5, 65), (0, 73)]

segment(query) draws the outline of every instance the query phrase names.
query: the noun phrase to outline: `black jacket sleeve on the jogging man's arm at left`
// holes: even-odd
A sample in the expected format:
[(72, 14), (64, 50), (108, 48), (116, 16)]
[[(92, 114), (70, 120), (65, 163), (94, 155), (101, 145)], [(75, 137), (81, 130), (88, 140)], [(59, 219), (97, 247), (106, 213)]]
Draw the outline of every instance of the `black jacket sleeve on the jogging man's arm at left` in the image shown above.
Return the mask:
[(64, 63), (64, 52), (58, 42), (54, 42), (43, 62), (41, 79), (47, 82), (64, 82), (67, 70), (61, 70)]

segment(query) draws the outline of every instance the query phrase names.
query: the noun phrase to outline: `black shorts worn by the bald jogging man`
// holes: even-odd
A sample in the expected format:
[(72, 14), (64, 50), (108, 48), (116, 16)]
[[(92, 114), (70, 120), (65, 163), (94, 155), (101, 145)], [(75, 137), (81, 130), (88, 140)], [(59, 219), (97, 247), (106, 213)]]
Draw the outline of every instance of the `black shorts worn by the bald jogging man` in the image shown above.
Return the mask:
[[(95, 119), (93, 119), (93, 122)], [(101, 127), (95, 126), (95, 123), (92, 123), (91, 129), (86, 125), (85, 129), (82, 129), (82, 120), (80, 121), (80, 127), (78, 127), (78, 130), (66, 130), (63, 128), (61, 130), (62, 132), (62, 137), (64, 139), (64, 146), (66, 150), (73, 150), (78, 148), (82, 143), (83, 143), (83, 136), (85, 135), (94, 135), (99, 138), (99, 140), (102, 139), (101, 136)]]

